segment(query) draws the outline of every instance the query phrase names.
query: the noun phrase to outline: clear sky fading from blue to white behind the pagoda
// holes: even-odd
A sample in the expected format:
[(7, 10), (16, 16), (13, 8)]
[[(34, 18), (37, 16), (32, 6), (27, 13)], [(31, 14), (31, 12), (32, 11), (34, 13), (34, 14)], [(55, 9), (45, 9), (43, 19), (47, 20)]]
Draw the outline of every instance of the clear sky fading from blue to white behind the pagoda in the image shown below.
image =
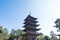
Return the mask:
[(31, 11), (38, 18), (42, 33), (56, 32), (54, 21), (60, 18), (60, 0), (0, 0), (0, 25), (11, 29), (23, 29), (24, 19)]

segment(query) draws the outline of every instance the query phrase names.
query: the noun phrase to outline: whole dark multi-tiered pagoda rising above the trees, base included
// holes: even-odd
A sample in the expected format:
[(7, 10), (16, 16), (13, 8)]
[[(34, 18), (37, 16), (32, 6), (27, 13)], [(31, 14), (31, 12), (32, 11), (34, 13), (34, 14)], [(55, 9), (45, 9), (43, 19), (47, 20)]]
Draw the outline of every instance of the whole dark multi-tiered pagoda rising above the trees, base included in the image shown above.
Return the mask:
[(36, 24), (38, 21), (36, 21), (37, 18), (32, 17), (31, 15), (28, 15), (26, 19), (24, 20), (24, 32), (26, 32), (25, 37), (26, 40), (37, 40), (37, 36), (39, 36), (41, 33), (38, 33), (37, 31), (40, 29), (37, 29), (36, 27), (39, 26)]

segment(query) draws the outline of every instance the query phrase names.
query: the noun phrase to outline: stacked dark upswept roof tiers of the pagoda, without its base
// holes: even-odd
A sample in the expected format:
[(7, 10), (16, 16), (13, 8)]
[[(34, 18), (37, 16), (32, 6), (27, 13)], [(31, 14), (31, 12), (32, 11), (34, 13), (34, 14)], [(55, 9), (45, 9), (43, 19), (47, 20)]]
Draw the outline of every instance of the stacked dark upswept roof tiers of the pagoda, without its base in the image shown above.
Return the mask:
[(27, 33), (30, 33), (30, 34), (40, 34), (40, 33), (37, 33), (36, 31), (40, 30), (40, 29), (37, 29), (36, 27), (39, 26), (39, 24), (36, 24), (38, 21), (36, 21), (37, 18), (35, 17), (32, 17), (31, 15), (28, 15), (27, 18), (24, 20), (24, 30), (25, 32)]

